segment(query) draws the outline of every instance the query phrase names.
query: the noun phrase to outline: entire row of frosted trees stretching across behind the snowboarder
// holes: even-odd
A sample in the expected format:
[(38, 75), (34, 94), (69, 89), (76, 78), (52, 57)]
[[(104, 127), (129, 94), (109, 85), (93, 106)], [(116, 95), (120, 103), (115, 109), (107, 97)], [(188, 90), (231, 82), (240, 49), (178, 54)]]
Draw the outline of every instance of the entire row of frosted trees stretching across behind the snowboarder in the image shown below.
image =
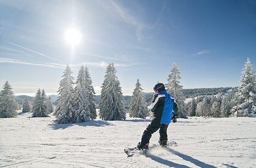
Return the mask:
[[(256, 117), (256, 76), (252, 69), (253, 65), (247, 58), (242, 71), (241, 85), (238, 88), (183, 89), (179, 82), (180, 70), (174, 63), (167, 78), (166, 91), (175, 98), (179, 106), (178, 117), (180, 118), (186, 118), (186, 116), (229, 117), (230, 115)], [(81, 66), (76, 83), (73, 82), (74, 78), (71, 76), (69, 65), (63, 73), (58, 90), (58, 105), (53, 113), (56, 116), (55, 122), (87, 122), (96, 119), (95, 92), (88, 68)], [(152, 99), (152, 94), (143, 93), (140, 80), (137, 79), (130, 103), (125, 104), (113, 63), (109, 63), (106, 68), (101, 88), (98, 105), (100, 119), (125, 120), (127, 112), (125, 106), (129, 108), (130, 117), (148, 116), (147, 106)], [(227, 90), (229, 92), (225, 93)], [(200, 96), (201, 93), (212, 95)], [(188, 97), (197, 96), (197, 98), (185, 103), (185, 94)], [(145, 95), (148, 96), (145, 97)], [(24, 100), (23, 109), (29, 110), (27, 102)], [(44, 89), (41, 92), (39, 88), (32, 102), (32, 117), (48, 117), (49, 112), (52, 111), (50, 106), (51, 103), (47, 100)], [(3, 91), (0, 92), (0, 117), (15, 117), (17, 108), (12, 87), (7, 81)]]

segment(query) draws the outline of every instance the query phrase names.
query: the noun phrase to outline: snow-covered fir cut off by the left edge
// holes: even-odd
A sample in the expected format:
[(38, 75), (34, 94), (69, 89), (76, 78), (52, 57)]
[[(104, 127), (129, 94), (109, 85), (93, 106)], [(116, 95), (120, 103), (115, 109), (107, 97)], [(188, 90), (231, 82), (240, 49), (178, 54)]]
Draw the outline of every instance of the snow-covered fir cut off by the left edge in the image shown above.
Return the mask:
[(0, 118), (16, 117), (17, 102), (14, 99), (12, 86), (8, 81), (3, 85), (3, 90), (0, 92)]

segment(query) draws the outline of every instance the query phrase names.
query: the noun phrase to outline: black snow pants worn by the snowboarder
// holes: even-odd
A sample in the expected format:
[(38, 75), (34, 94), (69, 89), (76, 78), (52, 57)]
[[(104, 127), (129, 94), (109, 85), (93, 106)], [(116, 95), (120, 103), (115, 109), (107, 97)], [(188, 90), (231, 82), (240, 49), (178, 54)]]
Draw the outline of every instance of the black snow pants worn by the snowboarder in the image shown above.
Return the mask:
[(154, 118), (151, 123), (147, 126), (145, 131), (143, 132), (143, 135), (141, 137), (141, 143), (143, 145), (149, 143), (149, 140), (154, 132), (156, 132), (159, 128), (159, 140), (162, 142), (163, 140), (168, 140), (167, 139), (167, 128), (169, 124), (161, 124), (160, 120), (157, 120)]

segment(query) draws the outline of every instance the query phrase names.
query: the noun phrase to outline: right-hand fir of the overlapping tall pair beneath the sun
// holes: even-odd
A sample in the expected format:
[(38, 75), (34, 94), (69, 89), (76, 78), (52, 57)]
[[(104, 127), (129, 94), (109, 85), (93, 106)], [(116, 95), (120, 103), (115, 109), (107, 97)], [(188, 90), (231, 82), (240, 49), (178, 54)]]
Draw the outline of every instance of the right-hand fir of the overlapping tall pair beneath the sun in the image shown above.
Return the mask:
[(88, 91), (85, 83), (84, 66), (81, 66), (75, 87), (75, 100), (74, 100), (74, 122), (88, 122), (90, 121), (90, 108), (88, 101)]

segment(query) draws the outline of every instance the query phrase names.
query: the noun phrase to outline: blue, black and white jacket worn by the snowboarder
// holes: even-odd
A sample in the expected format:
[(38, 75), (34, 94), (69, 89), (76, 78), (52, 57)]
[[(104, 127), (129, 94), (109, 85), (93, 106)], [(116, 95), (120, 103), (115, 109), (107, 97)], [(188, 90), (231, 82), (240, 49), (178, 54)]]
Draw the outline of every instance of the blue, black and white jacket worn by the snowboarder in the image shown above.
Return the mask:
[(178, 105), (170, 94), (160, 91), (154, 95), (150, 109), (156, 120), (160, 120), (162, 124), (169, 124), (172, 121), (172, 114), (177, 114)]

